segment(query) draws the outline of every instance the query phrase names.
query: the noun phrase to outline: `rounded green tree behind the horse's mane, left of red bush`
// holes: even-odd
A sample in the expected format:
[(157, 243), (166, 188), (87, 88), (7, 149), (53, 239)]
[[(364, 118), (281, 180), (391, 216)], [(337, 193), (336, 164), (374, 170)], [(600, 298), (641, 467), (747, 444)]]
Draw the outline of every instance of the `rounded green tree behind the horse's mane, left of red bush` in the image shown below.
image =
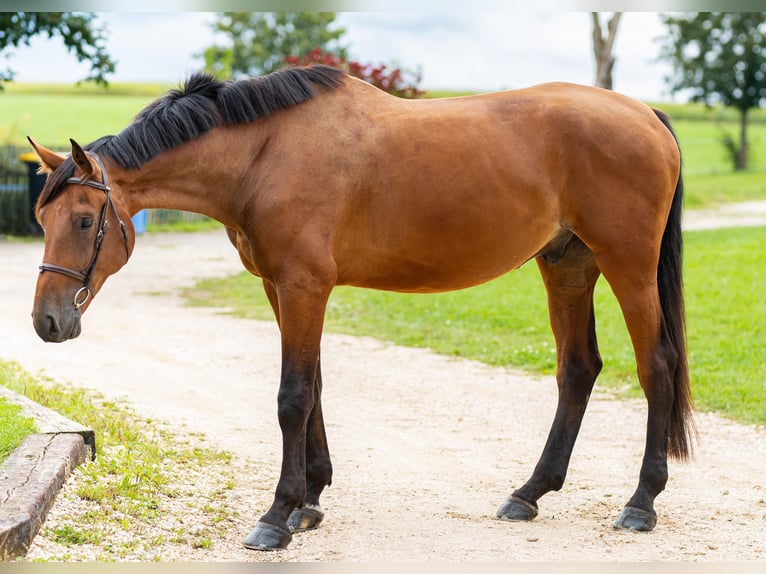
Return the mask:
[(299, 57), (320, 48), (345, 58), (343, 28), (331, 29), (334, 12), (219, 12), (213, 29), (228, 36), (203, 54), (205, 71), (221, 78), (273, 72), (286, 56)]

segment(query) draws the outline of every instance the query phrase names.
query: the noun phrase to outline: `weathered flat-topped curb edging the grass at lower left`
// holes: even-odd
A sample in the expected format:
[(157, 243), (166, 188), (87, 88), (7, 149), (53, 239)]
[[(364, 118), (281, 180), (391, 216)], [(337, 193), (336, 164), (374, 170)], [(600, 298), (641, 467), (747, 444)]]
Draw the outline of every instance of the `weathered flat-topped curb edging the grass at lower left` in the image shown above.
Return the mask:
[(95, 458), (95, 433), (0, 385), (0, 397), (35, 419), (39, 432), (0, 466), (0, 560), (23, 556), (74, 468)]

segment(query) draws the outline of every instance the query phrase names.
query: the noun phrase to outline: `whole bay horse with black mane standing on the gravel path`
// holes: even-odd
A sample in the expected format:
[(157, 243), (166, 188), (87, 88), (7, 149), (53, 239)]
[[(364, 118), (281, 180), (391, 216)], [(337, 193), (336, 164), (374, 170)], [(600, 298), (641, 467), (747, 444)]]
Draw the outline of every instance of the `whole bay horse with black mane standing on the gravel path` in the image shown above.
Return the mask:
[(247, 548), (285, 548), (324, 517), (332, 464), (319, 357), (333, 287), (443, 292), (531, 259), (547, 291), (558, 406), (530, 479), (497, 516), (531, 520), (564, 483), (602, 366), (593, 290), (603, 274), (648, 406), (638, 486), (614, 526), (654, 528), (668, 457), (688, 458), (695, 438), (681, 158), (662, 112), (566, 83), (405, 100), (315, 66), (236, 82), (194, 74), (119, 134), (85, 148), (72, 140), (69, 156), (30, 142), (49, 173), (32, 312), (45, 341), (80, 334), (82, 313), (131, 255), (130, 217), (142, 209), (217, 219), (262, 279), (282, 342), (283, 453)]

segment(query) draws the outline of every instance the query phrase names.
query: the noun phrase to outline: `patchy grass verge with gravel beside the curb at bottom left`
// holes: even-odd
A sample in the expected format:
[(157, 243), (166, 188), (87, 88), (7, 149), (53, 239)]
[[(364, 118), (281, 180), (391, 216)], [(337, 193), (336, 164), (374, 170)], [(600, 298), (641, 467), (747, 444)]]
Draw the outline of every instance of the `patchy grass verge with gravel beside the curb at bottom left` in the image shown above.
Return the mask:
[(188, 556), (232, 537), (230, 454), (15, 363), (0, 360), (0, 373), (9, 388), (96, 431), (96, 460), (75, 469), (57, 497), (59, 515), (49, 516), (36, 539), (46, 560), (167, 560), (168, 552)]

